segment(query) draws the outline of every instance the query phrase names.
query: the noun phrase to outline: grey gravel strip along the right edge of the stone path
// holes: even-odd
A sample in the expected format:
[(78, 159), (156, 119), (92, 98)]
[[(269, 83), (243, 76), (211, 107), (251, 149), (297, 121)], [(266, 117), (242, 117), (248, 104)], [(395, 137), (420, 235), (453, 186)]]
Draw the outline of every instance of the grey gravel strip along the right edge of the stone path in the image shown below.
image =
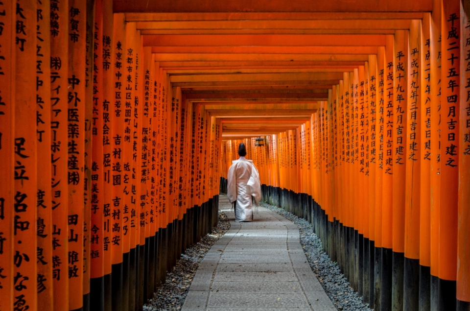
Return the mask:
[(261, 203), (261, 206), (284, 216), (299, 227), (300, 243), (302, 244), (302, 248), (304, 248), (308, 263), (337, 310), (371, 310), (368, 304), (362, 303), (362, 297), (358, 296), (357, 292), (352, 290), (348, 280), (345, 278), (344, 274), (341, 273), (339, 266), (333, 263), (323, 251), (322, 242), (320, 238), (313, 233), (312, 225), (308, 223), (308, 221), (284, 209), (264, 202)]

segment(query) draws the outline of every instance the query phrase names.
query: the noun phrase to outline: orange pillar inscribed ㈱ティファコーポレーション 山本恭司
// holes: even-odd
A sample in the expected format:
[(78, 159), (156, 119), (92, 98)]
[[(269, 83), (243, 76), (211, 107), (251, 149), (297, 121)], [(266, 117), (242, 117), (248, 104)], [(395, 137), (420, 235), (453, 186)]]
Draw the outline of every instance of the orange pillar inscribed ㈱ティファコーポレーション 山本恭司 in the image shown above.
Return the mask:
[(54, 310), (69, 310), (68, 248), (68, 1), (50, 3), (52, 279)]

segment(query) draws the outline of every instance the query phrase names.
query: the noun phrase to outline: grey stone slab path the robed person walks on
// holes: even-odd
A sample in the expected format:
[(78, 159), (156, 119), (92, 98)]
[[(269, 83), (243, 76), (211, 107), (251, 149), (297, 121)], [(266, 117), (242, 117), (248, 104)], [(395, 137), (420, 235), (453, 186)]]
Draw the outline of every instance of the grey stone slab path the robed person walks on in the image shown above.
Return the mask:
[(200, 263), (183, 311), (336, 310), (307, 263), (295, 224), (262, 207), (253, 222), (235, 222), (223, 195), (219, 209), (231, 228)]

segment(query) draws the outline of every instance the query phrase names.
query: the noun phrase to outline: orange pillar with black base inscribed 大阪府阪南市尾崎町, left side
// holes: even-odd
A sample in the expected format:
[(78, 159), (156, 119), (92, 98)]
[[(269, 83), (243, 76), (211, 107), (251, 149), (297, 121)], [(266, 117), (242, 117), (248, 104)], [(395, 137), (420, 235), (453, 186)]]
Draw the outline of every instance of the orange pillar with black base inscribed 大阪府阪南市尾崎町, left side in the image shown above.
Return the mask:
[[(144, 288), (144, 299), (151, 297), (153, 293), (153, 281), (150, 282), (150, 279), (154, 277), (153, 270), (150, 273), (149, 268), (153, 264), (148, 261), (151, 255), (151, 242), (155, 242), (154, 239), (150, 238), (150, 236), (155, 237), (155, 230), (153, 229), (153, 233), (151, 232), (150, 228), (152, 223), (150, 222), (150, 217), (153, 214), (152, 205), (150, 202), (150, 166), (149, 166), (149, 150), (150, 150), (150, 140), (151, 140), (151, 117), (150, 117), (150, 106), (151, 106), (151, 71), (152, 68), (155, 68), (155, 64), (152, 63), (152, 50), (150, 48), (143, 48), (143, 111), (142, 111), (142, 155), (141, 155), (141, 197), (144, 199), (146, 205), (145, 211), (145, 253), (148, 254), (148, 258), (146, 259), (145, 264), (145, 288)], [(151, 214), (152, 213), (152, 214)], [(152, 248), (152, 252), (154, 249)], [(151, 286), (150, 286), (150, 283)], [(151, 287), (151, 291), (149, 291)]]

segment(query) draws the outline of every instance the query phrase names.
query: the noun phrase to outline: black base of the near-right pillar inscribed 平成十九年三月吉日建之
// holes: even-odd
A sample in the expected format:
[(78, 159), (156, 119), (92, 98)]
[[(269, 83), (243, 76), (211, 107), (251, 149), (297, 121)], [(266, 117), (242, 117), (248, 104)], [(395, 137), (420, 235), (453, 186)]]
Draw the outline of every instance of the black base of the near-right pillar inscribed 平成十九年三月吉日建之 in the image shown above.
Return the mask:
[(420, 308), (420, 260), (404, 259), (403, 310)]

